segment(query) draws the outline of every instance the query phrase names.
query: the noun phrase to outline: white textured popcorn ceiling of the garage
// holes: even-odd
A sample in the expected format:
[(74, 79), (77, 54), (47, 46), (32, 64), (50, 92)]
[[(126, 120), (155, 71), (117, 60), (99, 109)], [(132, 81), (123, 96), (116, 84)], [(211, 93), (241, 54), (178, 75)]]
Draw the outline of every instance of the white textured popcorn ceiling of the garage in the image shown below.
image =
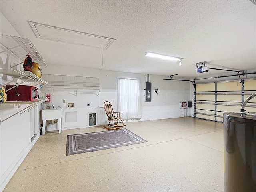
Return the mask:
[[(188, 78), (223, 73), (196, 73), (194, 64), (206, 61), (210, 63), (206, 66), (213, 68), (256, 71), (256, 5), (249, 0), (1, 0), (0, 6), (2, 14), (20, 36), (32, 41), (48, 66), (101, 69), (102, 50), (38, 39), (28, 21), (116, 39), (103, 50), (103, 70)], [(148, 51), (182, 57), (182, 66), (148, 58)]]

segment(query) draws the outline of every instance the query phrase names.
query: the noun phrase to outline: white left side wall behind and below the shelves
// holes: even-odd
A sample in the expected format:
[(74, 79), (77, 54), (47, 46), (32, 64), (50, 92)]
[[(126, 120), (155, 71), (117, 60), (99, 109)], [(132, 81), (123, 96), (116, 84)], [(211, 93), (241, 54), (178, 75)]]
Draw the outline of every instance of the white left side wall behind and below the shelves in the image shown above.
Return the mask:
[[(6, 18), (0, 14), (0, 33), (6, 35), (19, 36)], [(4, 50), (1, 46), (0, 50)], [(25, 56), (26, 57), (26, 56)], [(10, 52), (2, 53), (0, 56), (0, 68), (10, 69), (10, 66), (21, 61)], [(20, 70), (22, 65), (14, 67)], [(5, 84), (12, 78), (0, 74), (0, 84)], [(14, 82), (15, 83), (15, 82)], [(22, 105), (25, 108), (28, 105)], [(4, 120), (17, 112), (15, 105), (0, 104), (0, 118)], [(39, 131), (39, 127), (38, 130)], [(38, 132), (37, 132), (38, 133)], [(0, 190), (2, 191), (10, 178), (13, 176), (18, 166), (22, 163), (38, 136), (31, 142), (30, 138), (30, 112), (18, 113), (0, 124)]]

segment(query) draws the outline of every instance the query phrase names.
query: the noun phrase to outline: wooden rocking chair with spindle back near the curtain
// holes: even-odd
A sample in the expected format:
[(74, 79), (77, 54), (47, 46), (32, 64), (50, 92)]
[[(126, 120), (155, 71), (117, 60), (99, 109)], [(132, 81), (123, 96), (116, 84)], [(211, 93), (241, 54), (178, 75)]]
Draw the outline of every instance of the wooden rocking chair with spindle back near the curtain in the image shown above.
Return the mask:
[[(104, 109), (109, 120), (108, 127), (104, 126), (104, 128), (108, 130), (117, 130), (120, 129), (120, 127), (126, 126), (122, 120), (122, 117), (120, 116), (120, 113), (122, 112), (114, 112), (112, 104), (109, 101), (104, 102)], [(113, 121), (113, 124), (110, 124), (110, 121)], [(123, 125), (118, 126), (118, 123), (122, 123)], [(109, 128), (109, 126), (113, 126), (114, 128)]]

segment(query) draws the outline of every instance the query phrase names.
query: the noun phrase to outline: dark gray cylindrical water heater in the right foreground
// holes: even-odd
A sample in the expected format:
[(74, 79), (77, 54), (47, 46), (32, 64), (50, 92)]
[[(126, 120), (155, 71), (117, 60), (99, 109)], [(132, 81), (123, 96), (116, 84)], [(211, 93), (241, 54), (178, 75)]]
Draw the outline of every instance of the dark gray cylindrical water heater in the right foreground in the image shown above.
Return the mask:
[(224, 191), (256, 192), (256, 114), (223, 114)]

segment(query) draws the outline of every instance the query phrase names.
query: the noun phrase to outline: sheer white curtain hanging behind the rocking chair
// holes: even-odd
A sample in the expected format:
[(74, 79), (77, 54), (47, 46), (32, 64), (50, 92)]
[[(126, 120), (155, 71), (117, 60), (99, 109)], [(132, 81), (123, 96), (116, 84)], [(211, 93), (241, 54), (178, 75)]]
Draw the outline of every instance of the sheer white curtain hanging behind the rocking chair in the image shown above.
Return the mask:
[(141, 118), (140, 80), (118, 78), (117, 110), (123, 119)]

